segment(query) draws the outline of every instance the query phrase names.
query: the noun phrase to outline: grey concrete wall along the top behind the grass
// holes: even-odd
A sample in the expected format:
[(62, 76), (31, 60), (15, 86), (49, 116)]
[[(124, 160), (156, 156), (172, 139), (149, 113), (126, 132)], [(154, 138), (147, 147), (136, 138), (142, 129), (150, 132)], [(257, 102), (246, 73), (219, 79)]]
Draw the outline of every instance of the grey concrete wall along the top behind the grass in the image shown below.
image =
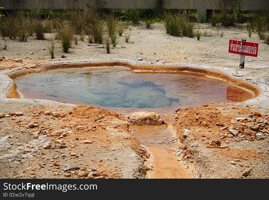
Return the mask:
[[(4, 9), (72, 9), (84, 5), (126, 9), (197, 9), (198, 17), (205, 17), (207, 9), (219, 9), (222, 3), (229, 7), (234, 0), (0, 0)], [(105, 2), (105, 3), (104, 3)], [(243, 10), (269, 9), (269, 0), (240, 0)]]

